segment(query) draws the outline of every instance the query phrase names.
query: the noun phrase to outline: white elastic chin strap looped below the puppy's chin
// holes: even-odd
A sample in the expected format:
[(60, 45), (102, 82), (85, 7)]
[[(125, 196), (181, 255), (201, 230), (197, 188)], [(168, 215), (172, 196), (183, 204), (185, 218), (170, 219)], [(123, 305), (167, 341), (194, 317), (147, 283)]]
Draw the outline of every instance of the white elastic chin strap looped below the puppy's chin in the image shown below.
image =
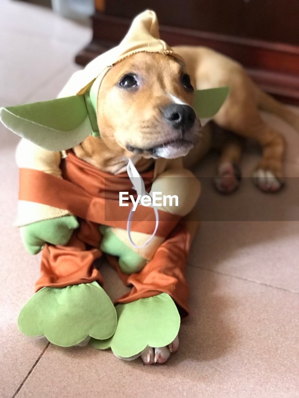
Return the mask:
[[(130, 181), (133, 184), (133, 189), (135, 189), (135, 191), (137, 192), (137, 195), (140, 195), (140, 198), (138, 200), (138, 205), (139, 205), (141, 198), (144, 195), (148, 195), (148, 193), (146, 192), (146, 187), (144, 185), (144, 181), (143, 181), (142, 177), (140, 176), (140, 174), (138, 173), (138, 171), (137, 171), (136, 167), (134, 166), (134, 163), (132, 162), (131, 159), (128, 160), (127, 173), (130, 178)], [(155, 236), (155, 233), (157, 232), (158, 225), (159, 225), (159, 213), (158, 213), (157, 207), (155, 207), (155, 206), (153, 206), (153, 211), (155, 212), (155, 219), (156, 219), (155, 229), (154, 229), (152, 235), (149, 237), (149, 239), (143, 245), (137, 246), (132, 241), (132, 238), (131, 238), (131, 222), (132, 222), (132, 218), (133, 218), (133, 206), (131, 207), (128, 221), (127, 221), (127, 233), (128, 233), (128, 239), (130, 241), (130, 244), (134, 248), (144, 248), (144, 246), (146, 246)]]

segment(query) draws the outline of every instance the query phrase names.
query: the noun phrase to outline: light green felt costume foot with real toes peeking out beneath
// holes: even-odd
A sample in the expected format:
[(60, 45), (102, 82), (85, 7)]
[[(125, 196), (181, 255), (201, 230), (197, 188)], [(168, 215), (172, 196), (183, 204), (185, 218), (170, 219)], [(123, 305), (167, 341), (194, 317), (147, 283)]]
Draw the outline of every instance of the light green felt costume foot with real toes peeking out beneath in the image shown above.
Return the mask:
[(107, 340), (90, 339), (94, 348), (111, 347), (117, 357), (135, 359), (146, 352), (148, 346), (165, 347), (177, 338), (180, 316), (174, 301), (166, 293), (118, 304), (116, 312), (116, 332)]

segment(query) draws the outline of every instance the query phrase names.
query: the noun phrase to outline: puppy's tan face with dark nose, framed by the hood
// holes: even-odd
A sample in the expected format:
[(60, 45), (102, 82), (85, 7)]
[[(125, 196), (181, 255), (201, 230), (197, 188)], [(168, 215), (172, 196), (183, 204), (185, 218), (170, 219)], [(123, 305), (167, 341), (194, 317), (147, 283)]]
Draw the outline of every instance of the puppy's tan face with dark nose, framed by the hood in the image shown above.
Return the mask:
[[(201, 123), (183, 62), (137, 53), (111, 68), (99, 88), (97, 121), (102, 140), (126, 156), (185, 156), (199, 142)], [(93, 137), (88, 137), (90, 146)]]

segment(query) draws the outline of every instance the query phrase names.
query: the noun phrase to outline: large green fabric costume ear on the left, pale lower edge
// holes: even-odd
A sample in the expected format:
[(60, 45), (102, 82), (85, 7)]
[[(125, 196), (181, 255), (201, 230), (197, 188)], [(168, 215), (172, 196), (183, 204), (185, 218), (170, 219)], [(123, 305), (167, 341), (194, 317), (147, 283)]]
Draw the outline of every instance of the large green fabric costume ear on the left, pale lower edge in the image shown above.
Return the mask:
[(0, 120), (13, 133), (53, 151), (72, 148), (92, 134), (84, 94), (0, 108)]

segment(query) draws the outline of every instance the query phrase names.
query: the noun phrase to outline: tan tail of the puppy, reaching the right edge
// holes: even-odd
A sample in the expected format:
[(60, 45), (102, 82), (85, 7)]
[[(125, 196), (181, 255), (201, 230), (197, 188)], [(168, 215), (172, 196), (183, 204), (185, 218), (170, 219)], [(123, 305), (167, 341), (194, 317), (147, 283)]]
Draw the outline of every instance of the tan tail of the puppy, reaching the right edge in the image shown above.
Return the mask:
[(297, 131), (299, 131), (299, 114), (275, 100), (273, 97), (260, 90), (258, 87), (255, 88), (259, 109), (281, 117), (281, 119), (285, 120), (291, 126), (295, 127)]

